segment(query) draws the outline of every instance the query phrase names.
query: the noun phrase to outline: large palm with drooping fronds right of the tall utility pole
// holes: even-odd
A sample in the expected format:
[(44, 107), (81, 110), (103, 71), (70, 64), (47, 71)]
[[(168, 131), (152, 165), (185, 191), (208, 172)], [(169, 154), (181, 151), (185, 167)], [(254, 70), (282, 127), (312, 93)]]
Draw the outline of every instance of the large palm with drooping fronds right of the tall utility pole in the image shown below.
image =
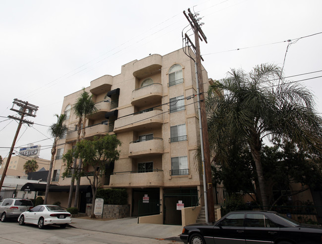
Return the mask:
[[(215, 92), (223, 96), (215, 96)], [(322, 118), (314, 110), (313, 95), (298, 83), (286, 82), (273, 64), (250, 73), (232, 69), (216, 81), (207, 100), (209, 141), (216, 160), (227, 159), (231, 141), (250, 148), (263, 206), (268, 195), (261, 163), (264, 138), (288, 140), (310, 152), (322, 152)]]

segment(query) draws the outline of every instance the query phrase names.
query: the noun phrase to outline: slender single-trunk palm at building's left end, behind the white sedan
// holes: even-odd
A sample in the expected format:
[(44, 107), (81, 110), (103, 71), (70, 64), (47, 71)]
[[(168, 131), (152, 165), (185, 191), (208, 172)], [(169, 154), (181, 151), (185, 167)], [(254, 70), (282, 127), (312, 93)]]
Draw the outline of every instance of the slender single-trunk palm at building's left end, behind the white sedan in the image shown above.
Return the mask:
[(51, 162), (49, 164), (49, 172), (48, 172), (48, 177), (47, 177), (47, 185), (46, 185), (44, 204), (47, 204), (47, 198), (48, 198), (48, 194), (49, 194), (49, 187), (50, 187), (52, 171), (53, 171), (54, 155), (56, 153), (56, 146), (57, 146), (59, 138), (61, 138), (68, 131), (67, 126), (64, 125), (64, 121), (66, 120), (66, 115), (60, 114), (58, 116), (58, 114), (55, 114), (54, 116), (57, 117), (57, 122), (52, 124), (49, 129), (51, 136), (54, 137), (54, 143), (53, 143), (53, 147), (52, 147), (52, 158), (51, 158)]

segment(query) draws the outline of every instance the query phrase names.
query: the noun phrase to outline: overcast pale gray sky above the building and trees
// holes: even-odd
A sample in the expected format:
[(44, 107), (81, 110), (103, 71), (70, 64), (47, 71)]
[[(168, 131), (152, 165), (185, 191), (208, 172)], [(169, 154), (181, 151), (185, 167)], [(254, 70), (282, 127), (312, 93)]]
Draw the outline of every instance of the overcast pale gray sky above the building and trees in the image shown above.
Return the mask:
[[(308, 79), (301, 84), (322, 112), (322, 78), (314, 78), (322, 76), (321, 0), (0, 0), (0, 155), (7, 156), (17, 129), (7, 120), (14, 98), (39, 106), (30, 120), (40, 124), (23, 125), (16, 147), (40, 144), (40, 156), (50, 159), (48, 126), (63, 97), (119, 74), (122, 64), (182, 48), (189, 7), (205, 23), (201, 52), (210, 78), (230, 68), (282, 66), (292, 40), (284, 74)], [(309, 72), (316, 73), (300, 75)]]

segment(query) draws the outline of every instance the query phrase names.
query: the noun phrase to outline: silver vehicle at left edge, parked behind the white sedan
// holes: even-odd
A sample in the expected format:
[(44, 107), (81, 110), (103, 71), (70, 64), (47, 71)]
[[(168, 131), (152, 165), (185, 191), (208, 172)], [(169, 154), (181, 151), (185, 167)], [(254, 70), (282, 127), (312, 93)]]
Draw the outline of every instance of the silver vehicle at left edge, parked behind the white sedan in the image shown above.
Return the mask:
[(18, 218), (21, 212), (32, 208), (34, 204), (29, 199), (22, 198), (4, 198), (0, 201), (1, 222), (8, 218)]

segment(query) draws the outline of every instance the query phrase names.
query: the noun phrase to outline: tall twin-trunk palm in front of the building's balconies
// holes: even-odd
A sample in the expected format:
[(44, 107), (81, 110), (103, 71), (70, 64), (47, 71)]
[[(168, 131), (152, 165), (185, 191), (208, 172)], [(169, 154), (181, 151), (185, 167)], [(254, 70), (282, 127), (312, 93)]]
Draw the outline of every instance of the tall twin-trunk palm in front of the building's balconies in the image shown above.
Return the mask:
[[(85, 138), (85, 124), (87, 120), (87, 116), (95, 113), (97, 111), (97, 108), (95, 107), (95, 102), (92, 100), (92, 95), (90, 95), (88, 92), (83, 89), (83, 93), (80, 94), (80, 96), (77, 98), (76, 103), (72, 106), (73, 112), (78, 117), (78, 131), (77, 131), (77, 142), (80, 141), (80, 134), (82, 133), (82, 139)], [(83, 125), (83, 126), (82, 126)], [(79, 186), (80, 186), (80, 171), (82, 168), (82, 160), (79, 160), (79, 165), (77, 168), (77, 158), (74, 159), (73, 166), (72, 166), (72, 178), (70, 183), (70, 191), (69, 191), (69, 197), (68, 197), (68, 207), (71, 206), (71, 200), (73, 195), (73, 188), (74, 188), (74, 182), (75, 182), (75, 175), (76, 170), (77, 172), (77, 183), (76, 183), (76, 191), (75, 191), (75, 199), (74, 199), (74, 207), (77, 207), (78, 197), (79, 197)]]

